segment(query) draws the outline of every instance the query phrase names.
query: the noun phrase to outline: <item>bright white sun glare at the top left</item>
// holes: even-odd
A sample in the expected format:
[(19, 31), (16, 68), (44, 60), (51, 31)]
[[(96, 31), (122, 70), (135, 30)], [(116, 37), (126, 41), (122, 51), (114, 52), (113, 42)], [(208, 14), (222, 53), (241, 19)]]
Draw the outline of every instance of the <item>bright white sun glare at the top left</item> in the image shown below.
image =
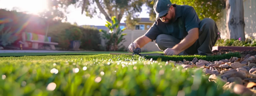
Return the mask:
[(19, 8), (31, 14), (37, 14), (47, 9), (46, 0), (20, 0)]

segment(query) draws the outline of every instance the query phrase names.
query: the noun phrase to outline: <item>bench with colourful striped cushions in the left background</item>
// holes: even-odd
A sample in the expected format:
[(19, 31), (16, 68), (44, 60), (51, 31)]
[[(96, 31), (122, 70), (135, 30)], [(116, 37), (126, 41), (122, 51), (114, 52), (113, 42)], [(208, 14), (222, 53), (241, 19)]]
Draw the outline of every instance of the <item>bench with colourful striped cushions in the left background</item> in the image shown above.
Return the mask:
[[(34, 37), (33, 37), (34, 36)], [(35, 33), (22, 33), (22, 41), (24, 42), (24, 47), (28, 47), (28, 42), (32, 43), (32, 48), (38, 49), (40, 44), (48, 44), (51, 48), (51, 50), (56, 50), (55, 45), (58, 45), (56, 42), (50, 42), (50, 37), (47, 38), (47, 41), (45, 40), (44, 35), (39, 35)]]

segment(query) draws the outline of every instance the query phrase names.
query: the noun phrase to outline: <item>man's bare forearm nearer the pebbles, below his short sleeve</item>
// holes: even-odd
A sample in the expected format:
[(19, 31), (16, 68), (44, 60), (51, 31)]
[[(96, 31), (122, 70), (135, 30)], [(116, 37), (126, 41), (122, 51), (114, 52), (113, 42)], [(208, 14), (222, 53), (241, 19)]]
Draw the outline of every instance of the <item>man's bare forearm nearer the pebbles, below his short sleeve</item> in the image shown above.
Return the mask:
[(177, 50), (179, 53), (186, 50), (192, 46), (198, 39), (198, 28), (193, 28), (189, 30), (188, 35), (180, 41), (173, 49)]

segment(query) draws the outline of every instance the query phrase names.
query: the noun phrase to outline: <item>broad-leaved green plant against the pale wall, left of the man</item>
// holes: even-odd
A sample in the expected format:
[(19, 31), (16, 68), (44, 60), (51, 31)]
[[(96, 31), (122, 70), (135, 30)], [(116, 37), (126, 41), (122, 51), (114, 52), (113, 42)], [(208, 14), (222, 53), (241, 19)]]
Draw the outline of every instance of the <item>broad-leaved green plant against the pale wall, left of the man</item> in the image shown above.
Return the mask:
[[(126, 29), (119, 28), (119, 21), (116, 19), (115, 16), (112, 17), (112, 23), (106, 21), (107, 24), (105, 26), (110, 30), (107, 32), (106, 30), (100, 29), (102, 32), (103, 39), (106, 39), (106, 50), (107, 51), (120, 51), (119, 48), (124, 47), (123, 42), (125, 42), (125, 38), (123, 36), (127, 34), (122, 34), (122, 32)], [(114, 32), (114, 29), (116, 31)]]

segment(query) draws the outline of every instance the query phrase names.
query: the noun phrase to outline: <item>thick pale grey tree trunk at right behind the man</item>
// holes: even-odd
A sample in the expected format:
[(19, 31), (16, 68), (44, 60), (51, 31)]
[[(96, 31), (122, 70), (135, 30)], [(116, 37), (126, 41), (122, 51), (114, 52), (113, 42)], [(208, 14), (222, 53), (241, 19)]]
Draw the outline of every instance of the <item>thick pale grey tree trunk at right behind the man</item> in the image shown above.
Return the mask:
[(243, 0), (226, 0), (227, 37), (228, 39), (245, 40)]

